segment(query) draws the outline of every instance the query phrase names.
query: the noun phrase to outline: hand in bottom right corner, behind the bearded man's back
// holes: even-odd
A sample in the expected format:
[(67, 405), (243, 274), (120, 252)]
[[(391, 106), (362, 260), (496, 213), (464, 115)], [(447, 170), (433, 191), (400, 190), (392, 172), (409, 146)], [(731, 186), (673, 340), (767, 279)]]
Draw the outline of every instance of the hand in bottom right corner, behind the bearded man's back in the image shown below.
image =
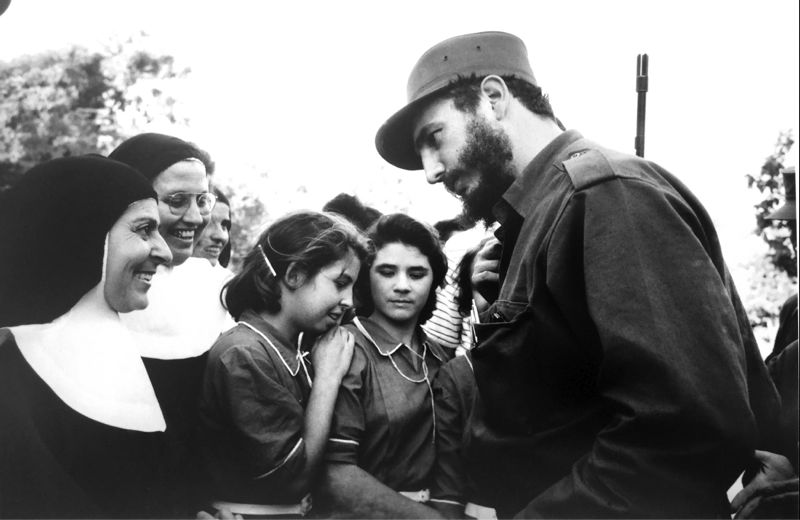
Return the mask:
[(733, 498), (734, 518), (797, 518), (798, 478), (789, 459), (758, 451), (758, 473)]

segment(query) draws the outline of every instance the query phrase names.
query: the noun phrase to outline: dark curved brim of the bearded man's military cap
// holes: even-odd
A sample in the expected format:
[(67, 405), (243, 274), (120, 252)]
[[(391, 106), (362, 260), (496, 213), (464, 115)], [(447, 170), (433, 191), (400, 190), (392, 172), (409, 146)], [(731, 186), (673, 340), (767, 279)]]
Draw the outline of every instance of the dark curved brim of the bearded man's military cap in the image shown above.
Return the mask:
[(415, 99), (398, 110), (378, 129), (375, 148), (389, 164), (403, 170), (421, 170), (422, 160), (414, 149), (414, 123), (423, 108), (444, 87)]

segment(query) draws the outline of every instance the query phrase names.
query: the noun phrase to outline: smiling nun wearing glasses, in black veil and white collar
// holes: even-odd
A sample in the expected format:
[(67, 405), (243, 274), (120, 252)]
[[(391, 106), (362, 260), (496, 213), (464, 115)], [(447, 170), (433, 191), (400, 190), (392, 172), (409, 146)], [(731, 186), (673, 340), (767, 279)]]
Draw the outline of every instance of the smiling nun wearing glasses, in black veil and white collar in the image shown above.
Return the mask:
[(172, 263), (153, 278), (150, 306), (124, 316), (123, 323), (134, 333), (167, 421), (163, 515), (194, 516), (203, 497), (195, 438), (203, 370), (211, 345), (233, 326), (220, 301), (230, 273), (192, 258), (216, 201), (208, 181), (213, 162), (196, 145), (157, 133), (131, 137), (109, 157), (150, 179), (159, 231), (172, 252)]

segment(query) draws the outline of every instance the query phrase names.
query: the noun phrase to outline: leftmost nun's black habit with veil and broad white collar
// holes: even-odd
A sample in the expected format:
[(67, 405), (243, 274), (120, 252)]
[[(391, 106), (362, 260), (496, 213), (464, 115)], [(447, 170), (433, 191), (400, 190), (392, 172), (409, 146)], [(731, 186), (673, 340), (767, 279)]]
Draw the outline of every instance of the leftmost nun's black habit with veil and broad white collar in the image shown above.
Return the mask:
[(145, 517), (165, 422), (103, 295), (107, 235), (147, 180), (100, 157), (0, 201), (0, 517)]

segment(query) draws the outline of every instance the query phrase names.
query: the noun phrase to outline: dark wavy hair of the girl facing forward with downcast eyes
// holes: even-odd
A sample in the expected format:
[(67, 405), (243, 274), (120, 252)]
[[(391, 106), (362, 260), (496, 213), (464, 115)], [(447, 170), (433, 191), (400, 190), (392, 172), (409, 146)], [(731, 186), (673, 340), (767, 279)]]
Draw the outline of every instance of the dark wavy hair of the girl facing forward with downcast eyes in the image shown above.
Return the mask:
[[(442, 251), (436, 230), (403, 213), (392, 213), (379, 218), (369, 229), (367, 236), (372, 241), (375, 253), (387, 244), (400, 242), (416, 247), (428, 258), (433, 272), (433, 283), (430, 294), (428, 294), (428, 301), (419, 314), (419, 323), (425, 323), (436, 307), (436, 288), (444, 285), (444, 277), (447, 274), (447, 257)], [(374, 260), (375, 254), (373, 253), (369, 258), (367, 268), (361, 270), (356, 283), (357, 299), (361, 305), (358, 314), (361, 316), (368, 316), (374, 310), (369, 281), (369, 268)]]

